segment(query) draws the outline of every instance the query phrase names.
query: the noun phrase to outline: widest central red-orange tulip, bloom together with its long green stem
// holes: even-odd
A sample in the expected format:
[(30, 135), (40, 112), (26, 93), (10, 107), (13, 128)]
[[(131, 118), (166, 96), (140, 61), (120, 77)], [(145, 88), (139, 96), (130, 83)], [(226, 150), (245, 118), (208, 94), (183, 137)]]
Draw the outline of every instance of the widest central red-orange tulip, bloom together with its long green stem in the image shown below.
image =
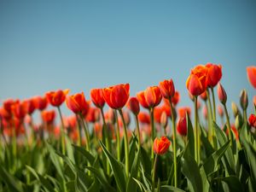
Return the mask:
[[(127, 136), (127, 128), (125, 124), (124, 114), (122, 108), (125, 106), (126, 102), (130, 96), (130, 84), (117, 84), (108, 88), (103, 89), (103, 96), (105, 102), (108, 103), (108, 106), (113, 109), (117, 109), (122, 118), (124, 131), (125, 131), (125, 174), (128, 177), (129, 175), (129, 143)], [(118, 122), (117, 122), (118, 124)], [(119, 129), (118, 133), (119, 135)], [(119, 138), (119, 136), (118, 136)], [(118, 148), (120, 146), (118, 145)], [(119, 149), (118, 149), (119, 151)]]

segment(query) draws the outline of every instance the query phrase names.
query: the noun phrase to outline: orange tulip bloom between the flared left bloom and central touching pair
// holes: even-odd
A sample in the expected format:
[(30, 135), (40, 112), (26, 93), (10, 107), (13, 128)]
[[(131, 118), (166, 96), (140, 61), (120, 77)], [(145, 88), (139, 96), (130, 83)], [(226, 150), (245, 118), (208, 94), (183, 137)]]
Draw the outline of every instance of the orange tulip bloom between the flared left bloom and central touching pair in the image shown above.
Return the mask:
[(85, 101), (84, 93), (77, 93), (73, 96), (67, 96), (66, 99), (67, 108), (73, 111), (73, 113), (83, 113), (88, 111), (89, 105)]

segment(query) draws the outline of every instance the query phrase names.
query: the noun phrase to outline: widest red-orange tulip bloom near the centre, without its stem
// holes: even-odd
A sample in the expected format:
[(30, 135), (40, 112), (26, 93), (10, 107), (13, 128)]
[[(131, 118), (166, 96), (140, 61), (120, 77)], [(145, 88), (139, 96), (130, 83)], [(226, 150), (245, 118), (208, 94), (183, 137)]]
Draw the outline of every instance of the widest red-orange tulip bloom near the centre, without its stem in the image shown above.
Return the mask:
[(110, 108), (123, 108), (130, 96), (130, 84), (117, 84), (104, 88), (103, 96)]

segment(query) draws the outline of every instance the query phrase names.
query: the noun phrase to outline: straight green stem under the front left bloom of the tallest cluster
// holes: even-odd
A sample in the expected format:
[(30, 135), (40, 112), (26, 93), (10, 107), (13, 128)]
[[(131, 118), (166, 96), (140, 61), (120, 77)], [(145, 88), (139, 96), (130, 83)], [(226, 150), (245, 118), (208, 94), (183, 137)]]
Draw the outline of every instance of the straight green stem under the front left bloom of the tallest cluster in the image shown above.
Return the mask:
[(200, 133), (198, 127), (198, 113), (197, 113), (197, 96), (195, 96), (195, 160), (200, 165)]

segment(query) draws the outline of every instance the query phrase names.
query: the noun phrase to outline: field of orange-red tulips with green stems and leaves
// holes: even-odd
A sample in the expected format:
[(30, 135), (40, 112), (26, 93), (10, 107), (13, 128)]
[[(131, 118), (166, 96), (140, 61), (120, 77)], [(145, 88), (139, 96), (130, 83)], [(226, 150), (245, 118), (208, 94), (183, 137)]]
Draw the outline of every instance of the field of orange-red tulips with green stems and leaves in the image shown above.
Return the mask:
[[(0, 191), (255, 192), (256, 91), (248, 98), (241, 90), (240, 103), (227, 106), (222, 68), (207, 63), (188, 73), (183, 89), (194, 108), (177, 108), (172, 77), (136, 96), (127, 83), (88, 90), (86, 99), (69, 90), (7, 98)], [(244, 74), (256, 90), (256, 67)]]

